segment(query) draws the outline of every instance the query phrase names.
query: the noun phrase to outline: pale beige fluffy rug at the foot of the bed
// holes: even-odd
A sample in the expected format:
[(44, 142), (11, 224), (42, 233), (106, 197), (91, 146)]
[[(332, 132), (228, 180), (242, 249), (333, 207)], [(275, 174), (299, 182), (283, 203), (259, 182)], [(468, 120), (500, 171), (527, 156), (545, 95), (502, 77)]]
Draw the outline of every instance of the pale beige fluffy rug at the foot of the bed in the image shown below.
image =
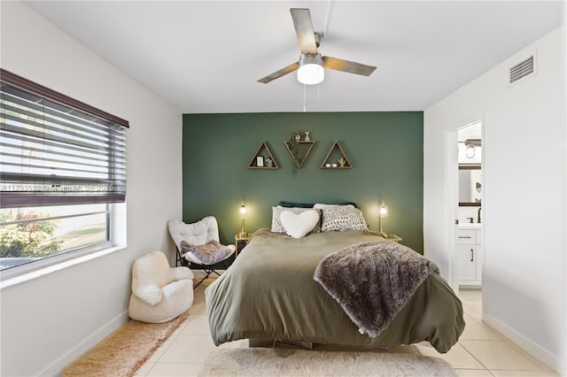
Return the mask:
[(456, 376), (440, 358), (365, 351), (217, 349), (199, 376)]

